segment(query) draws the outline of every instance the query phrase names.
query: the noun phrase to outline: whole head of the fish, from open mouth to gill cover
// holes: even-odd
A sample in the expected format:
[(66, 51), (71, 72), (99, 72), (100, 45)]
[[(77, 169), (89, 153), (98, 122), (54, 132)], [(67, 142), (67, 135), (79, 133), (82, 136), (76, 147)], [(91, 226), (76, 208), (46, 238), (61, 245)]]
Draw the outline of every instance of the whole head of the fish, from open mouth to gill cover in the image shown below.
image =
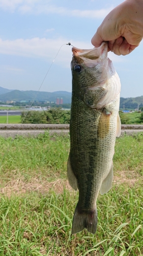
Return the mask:
[[(78, 94), (84, 103), (92, 106), (92, 108), (96, 106), (97, 108), (102, 108), (107, 101), (109, 103), (115, 97), (115, 93), (108, 99), (106, 99), (105, 95), (107, 96), (111, 89), (110, 78), (117, 74), (111, 60), (107, 57), (107, 42), (102, 42), (100, 47), (89, 50), (73, 47), (72, 53), (72, 91)], [(115, 91), (115, 88), (113, 90)], [(116, 88), (116, 94), (119, 91)]]

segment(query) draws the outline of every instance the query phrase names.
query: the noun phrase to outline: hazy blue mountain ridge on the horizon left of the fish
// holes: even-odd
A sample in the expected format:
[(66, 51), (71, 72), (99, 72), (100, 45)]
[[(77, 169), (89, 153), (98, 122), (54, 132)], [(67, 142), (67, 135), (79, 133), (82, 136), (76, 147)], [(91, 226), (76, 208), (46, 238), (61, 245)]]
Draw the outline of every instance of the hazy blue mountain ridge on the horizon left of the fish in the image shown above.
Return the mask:
[(38, 91), (19, 91), (13, 90), (0, 94), (0, 100), (21, 101), (21, 100), (46, 100), (56, 101), (56, 98), (63, 98), (63, 103), (71, 103), (71, 93), (65, 91), (58, 92), (38, 92)]

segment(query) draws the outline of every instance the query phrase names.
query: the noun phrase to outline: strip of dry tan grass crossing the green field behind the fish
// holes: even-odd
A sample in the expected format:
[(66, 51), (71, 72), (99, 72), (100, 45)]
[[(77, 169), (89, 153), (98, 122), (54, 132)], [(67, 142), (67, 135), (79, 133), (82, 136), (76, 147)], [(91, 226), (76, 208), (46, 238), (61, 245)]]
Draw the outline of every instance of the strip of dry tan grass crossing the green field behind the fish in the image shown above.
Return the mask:
[[(113, 185), (127, 184), (128, 186), (133, 186), (139, 180), (139, 175), (135, 172), (122, 171), (120, 175), (113, 178)], [(68, 180), (57, 179), (53, 182), (48, 182), (47, 180), (42, 180), (41, 177), (32, 178), (30, 181), (25, 182), (24, 178), (15, 177), (8, 182), (0, 182), (0, 193), (2, 195), (7, 195), (10, 197), (12, 194), (20, 195), (24, 193), (30, 193), (31, 191), (37, 191), (41, 194), (47, 194), (50, 189), (54, 190), (56, 193), (63, 193), (63, 189), (73, 190), (69, 185)]]

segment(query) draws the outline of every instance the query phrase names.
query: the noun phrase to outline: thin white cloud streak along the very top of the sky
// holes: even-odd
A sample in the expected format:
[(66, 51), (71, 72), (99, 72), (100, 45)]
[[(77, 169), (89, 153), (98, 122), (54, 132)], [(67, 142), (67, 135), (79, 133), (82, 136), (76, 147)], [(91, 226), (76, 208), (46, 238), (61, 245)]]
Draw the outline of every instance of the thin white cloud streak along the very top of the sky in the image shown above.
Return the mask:
[(104, 18), (113, 8), (101, 10), (78, 10), (68, 9), (61, 6), (51, 5), (50, 0), (0, 0), (0, 8), (5, 11), (14, 12), (16, 9), (21, 13), (34, 13), (34, 14), (60, 14), (84, 18)]

